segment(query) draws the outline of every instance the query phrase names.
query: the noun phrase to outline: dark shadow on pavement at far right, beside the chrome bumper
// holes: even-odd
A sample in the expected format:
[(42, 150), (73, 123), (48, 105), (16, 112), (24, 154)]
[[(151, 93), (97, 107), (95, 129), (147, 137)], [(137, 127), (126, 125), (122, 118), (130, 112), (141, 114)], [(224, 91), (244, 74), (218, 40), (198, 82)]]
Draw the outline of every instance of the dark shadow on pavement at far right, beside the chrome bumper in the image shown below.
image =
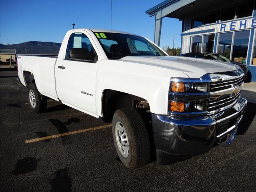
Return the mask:
[(238, 129), (237, 129), (238, 135), (243, 135), (246, 133), (246, 131), (248, 130), (250, 124), (252, 123), (255, 115), (256, 115), (256, 104), (248, 102), (243, 120), (239, 124)]

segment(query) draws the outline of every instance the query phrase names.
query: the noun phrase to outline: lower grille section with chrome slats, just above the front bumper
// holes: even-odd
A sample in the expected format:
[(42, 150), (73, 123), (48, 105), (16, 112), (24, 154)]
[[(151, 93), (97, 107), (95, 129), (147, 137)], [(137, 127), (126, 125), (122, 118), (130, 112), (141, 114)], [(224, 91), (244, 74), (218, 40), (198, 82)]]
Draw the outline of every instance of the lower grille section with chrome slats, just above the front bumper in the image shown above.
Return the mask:
[(240, 92), (238, 92), (234, 96), (228, 96), (222, 99), (210, 101), (208, 103), (207, 111), (208, 112), (214, 111), (222, 107), (228, 106), (230, 104), (236, 103), (239, 97), (240, 97)]

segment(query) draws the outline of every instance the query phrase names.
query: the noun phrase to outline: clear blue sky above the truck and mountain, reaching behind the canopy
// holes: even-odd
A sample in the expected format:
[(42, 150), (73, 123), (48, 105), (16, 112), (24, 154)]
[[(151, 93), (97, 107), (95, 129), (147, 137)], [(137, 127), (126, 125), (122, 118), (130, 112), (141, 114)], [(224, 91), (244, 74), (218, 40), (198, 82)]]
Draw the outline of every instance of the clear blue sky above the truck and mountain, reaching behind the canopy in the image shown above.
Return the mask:
[[(112, 0), (113, 30), (132, 32), (154, 41), (154, 16), (145, 11), (163, 0)], [(0, 43), (62, 42), (72, 28), (111, 29), (110, 0), (0, 0)], [(182, 22), (164, 18), (160, 47), (180, 47)]]

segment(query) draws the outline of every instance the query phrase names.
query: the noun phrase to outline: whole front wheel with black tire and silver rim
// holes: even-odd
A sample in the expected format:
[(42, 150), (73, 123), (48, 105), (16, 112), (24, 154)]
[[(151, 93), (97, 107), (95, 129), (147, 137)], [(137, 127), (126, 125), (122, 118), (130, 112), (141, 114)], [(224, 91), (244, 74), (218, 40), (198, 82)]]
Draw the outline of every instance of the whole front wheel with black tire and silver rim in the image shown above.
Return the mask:
[(150, 159), (150, 138), (146, 124), (133, 108), (116, 110), (112, 135), (122, 163), (129, 169), (144, 166)]

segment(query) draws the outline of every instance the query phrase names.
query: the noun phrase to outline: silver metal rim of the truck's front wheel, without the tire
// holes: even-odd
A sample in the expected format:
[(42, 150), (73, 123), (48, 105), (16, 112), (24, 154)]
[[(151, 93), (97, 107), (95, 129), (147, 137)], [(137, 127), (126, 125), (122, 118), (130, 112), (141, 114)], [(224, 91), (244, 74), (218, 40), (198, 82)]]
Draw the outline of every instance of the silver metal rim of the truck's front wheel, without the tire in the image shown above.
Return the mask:
[(126, 134), (126, 130), (121, 122), (116, 122), (115, 126), (115, 136), (118, 149), (122, 156), (128, 157), (129, 155), (129, 141)]

